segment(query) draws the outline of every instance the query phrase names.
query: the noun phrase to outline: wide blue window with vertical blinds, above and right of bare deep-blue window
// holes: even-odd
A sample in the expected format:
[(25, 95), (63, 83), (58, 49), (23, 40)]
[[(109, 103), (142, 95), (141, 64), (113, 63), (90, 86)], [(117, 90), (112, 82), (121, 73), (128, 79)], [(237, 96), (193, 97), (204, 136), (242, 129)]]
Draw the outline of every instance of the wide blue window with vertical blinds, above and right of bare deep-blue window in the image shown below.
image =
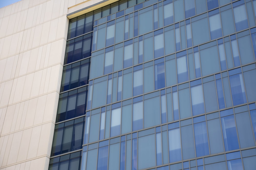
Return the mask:
[(229, 76), (233, 105), (246, 103), (242, 74)]

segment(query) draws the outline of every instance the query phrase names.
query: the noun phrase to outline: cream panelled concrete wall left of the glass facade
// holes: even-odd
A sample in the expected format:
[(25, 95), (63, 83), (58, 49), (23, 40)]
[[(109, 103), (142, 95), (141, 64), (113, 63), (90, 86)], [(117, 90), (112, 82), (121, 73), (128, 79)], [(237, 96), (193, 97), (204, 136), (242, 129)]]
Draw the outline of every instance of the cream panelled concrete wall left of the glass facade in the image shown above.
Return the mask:
[(68, 30), (67, 0), (0, 8), (0, 169), (48, 169)]

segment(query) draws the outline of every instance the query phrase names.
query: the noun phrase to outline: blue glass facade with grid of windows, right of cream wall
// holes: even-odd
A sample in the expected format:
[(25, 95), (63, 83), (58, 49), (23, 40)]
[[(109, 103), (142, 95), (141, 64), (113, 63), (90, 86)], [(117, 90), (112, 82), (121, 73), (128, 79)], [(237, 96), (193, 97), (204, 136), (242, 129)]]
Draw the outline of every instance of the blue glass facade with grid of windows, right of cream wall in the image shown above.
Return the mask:
[(49, 169), (255, 169), (255, 16), (121, 0), (70, 19)]

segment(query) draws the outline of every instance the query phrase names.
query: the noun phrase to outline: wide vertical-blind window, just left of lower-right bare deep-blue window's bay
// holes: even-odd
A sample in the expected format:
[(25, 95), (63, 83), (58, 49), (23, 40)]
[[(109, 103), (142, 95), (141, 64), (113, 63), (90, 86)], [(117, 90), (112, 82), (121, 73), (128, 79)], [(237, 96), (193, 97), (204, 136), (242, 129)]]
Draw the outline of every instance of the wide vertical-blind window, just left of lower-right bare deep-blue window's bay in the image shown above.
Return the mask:
[(194, 124), (196, 156), (209, 155), (209, 146), (206, 130), (206, 122)]

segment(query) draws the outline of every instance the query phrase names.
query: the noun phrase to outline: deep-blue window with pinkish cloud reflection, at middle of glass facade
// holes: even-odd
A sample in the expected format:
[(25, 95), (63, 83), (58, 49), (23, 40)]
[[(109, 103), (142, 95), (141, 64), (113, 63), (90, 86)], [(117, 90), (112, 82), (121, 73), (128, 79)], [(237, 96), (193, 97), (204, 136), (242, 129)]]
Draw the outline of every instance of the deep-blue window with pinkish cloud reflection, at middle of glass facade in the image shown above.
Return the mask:
[(155, 90), (165, 87), (164, 62), (155, 65)]

